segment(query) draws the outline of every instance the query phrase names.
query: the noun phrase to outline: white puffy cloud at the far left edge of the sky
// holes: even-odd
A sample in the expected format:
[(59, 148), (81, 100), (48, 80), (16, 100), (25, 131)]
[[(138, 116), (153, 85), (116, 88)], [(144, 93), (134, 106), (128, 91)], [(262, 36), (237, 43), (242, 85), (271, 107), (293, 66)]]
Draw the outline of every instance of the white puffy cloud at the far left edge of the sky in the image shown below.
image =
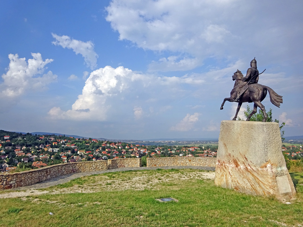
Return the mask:
[[(52, 71), (43, 74), (45, 65), (53, 59), (43, 61), (40, 53), (32, 53), (32, 57), (26, 62), (18, 54), (8, 55), (8, 70), (2, 74), (3, 83), (0, 84), (2, 97), (15, 98), (31, 90), (41, 90), (57, 80), (57, 75), (52, 74)], [(38, 77), (39, 74), (43, 75)]]

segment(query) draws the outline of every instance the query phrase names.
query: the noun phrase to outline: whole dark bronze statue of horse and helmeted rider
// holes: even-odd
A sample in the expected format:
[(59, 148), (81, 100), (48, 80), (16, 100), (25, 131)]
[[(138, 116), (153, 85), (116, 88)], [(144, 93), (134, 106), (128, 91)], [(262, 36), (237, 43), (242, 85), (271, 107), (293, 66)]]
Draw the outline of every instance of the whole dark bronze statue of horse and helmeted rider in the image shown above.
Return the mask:
[(232, 76), (232, 80), (235, 81), (234, 88), (230, 92), (230, 97), (225, 98), (220, 110), (223, 110), (223, 106), (225, 101), (229, 102), (237, 102), (238, 107), (235, 114), (235, 117), (232, 120), (236, 120), (238, 112), (242, 103), (248, 102), (254, 103), (254, 109), (249, 114), (246, 120), (249, 120), (253, 114), (257, 112), (257, 107), (259, 107), (263, 112), (263, 120), (265, 122), (267, 119), (267, 114), (265, 112), (264, 106), (261, 104), (267, 95), (267, 91), (269, 93), (269, 98), (272, 104), (276, 107), (280, 107), (280, 104), (283, 103), (282, 96), (275, 93), (270, 87), (258, 84), (259, 75), (263, 72), (259, 73), (257, 69), (257, 61), (254, 58), (250, 62), (250, 68), (248, 68), (246, 76), (244, 77), (241, 71), (237, 70)]

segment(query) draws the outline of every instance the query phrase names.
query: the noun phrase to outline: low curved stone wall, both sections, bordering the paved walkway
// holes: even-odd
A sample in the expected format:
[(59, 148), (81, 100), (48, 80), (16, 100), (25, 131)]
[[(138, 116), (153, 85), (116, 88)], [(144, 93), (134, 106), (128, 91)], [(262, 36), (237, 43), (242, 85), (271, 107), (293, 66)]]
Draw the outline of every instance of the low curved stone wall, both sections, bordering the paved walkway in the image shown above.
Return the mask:
[[(147, 167), (155, 166), (210, 166), (215, 167), (217, 158), (210, 157), (166, 157), (147, 158)], [(32, 169), (11, 174), (0, 175), (0, 190), (18, 188), (32, 185), (57, 176), (91, 172), (122, 167), (140, 167), (141, 158), (119, 158), (103, 161), (89, 161), (77, 163), (64, 163), (46, 166), (40, 169)]]

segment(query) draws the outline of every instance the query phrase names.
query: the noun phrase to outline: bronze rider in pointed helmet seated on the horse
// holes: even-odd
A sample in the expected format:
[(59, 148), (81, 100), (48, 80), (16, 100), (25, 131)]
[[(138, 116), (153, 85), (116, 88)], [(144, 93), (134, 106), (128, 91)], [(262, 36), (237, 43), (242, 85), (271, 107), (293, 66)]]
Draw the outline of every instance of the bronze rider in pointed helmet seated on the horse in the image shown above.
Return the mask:
[(248, 89), (249, 84), (258, 84), (259, 80), (259, 71), (257, 69), (257, 61), (256, 59), (252, 59), (250, 62), (250, 68), (248, 68), (246, 72), (246, 76), (243, 77), (243, 84), (239, 84), (236, 87), (237, 90), (237, 96), (234, 99), (234, 101), (239, 101), (241, 95)]

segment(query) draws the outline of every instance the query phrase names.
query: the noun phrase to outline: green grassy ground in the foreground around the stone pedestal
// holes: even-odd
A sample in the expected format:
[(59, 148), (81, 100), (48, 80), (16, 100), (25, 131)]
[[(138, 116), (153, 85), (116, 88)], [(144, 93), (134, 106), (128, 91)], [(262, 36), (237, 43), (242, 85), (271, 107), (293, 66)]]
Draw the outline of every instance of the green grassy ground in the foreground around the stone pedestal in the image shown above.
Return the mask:
[[(1, 199), (0, 226), (303, 225), (303, 173), (291, 173), (297, 190), (291, 204), (217, 187), (213, 180), (199, 177), (203, 173), (157, 169), (82, 177), (45, 189), (59, 194)], [(142, 188), (123, 189), (133, 179)], [(85, 193), (89, 187), (95, 192)], [(74, 189), (84, 192), (66, 193)], [(166, 197), (179, 202), (155, 200)]]

